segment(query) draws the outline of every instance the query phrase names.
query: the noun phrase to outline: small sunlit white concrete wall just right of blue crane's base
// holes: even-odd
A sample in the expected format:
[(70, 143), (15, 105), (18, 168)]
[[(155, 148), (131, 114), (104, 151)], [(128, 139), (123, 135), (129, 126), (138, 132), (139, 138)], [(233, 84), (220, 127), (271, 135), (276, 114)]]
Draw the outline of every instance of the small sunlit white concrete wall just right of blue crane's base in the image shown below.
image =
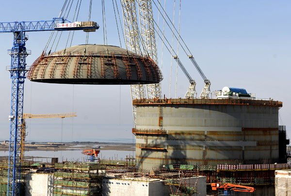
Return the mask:
[(26, 174), (25, 196), (53, 196), (52, 175)]

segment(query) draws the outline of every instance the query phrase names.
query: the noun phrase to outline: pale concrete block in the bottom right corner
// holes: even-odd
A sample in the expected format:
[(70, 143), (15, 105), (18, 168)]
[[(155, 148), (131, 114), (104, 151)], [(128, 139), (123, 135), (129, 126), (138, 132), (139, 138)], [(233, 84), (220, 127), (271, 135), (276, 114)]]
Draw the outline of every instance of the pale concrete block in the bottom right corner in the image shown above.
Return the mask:
[(291, 196), (291, 170), (275, 171), (275, 193), (276, 196)]

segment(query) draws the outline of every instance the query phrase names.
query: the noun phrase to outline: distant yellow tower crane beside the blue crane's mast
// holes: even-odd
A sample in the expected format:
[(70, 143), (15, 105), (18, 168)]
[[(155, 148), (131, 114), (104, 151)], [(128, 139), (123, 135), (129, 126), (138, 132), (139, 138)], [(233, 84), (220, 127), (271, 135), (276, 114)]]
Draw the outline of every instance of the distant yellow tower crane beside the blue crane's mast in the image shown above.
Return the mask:
[(48, 119), (48, 118), (62, 118), (65, 117), (74, 117), (77, 116), (77, 113), (59, 113), (59, 114), (23, 114), (22, 122), (22, 136), (21, 136), (21, 162), (24, 157), (24, 146), (25, 146), (25, 136), (26, 136), (26, 122), (25, 119)]

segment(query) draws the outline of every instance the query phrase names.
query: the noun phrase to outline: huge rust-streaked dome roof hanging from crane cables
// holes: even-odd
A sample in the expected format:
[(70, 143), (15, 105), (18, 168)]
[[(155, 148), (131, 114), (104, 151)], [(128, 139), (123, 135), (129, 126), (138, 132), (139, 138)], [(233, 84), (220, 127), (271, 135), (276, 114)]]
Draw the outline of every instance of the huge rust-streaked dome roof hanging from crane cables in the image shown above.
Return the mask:
[(62, 84), (151, 84), (162, 73), (149, 57), (112, 45), (76, 45), (35, 60), (27, 77)]

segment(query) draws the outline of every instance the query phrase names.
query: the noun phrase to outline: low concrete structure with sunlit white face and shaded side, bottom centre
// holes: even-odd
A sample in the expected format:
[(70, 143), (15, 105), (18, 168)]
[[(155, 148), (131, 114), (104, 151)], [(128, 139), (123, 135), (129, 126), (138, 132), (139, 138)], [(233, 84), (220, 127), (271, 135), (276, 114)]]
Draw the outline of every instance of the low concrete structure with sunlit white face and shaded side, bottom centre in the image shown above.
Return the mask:
[[(206, 177), (199, 176), (187, 179), (178, 179), (182, 183), (197, 187), (197, 196), (206, 196)], [(173, 188), (176, 191), (176, 188)], [(120, 179), (103, 179), (103, 196), (169, 196), (171, 189), (164, 181), (133, 181)]]

